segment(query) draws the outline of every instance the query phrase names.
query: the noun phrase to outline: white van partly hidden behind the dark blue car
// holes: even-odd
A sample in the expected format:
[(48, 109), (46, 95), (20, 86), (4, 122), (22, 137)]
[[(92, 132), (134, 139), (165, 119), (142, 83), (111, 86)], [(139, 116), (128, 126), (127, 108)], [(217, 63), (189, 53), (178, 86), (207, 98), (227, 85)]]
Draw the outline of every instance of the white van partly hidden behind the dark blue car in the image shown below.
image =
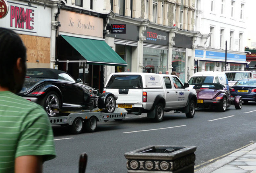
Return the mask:
[(225, 71), (229, 87), (232, 87), (239, 79), (256, 78), (256, 71)]

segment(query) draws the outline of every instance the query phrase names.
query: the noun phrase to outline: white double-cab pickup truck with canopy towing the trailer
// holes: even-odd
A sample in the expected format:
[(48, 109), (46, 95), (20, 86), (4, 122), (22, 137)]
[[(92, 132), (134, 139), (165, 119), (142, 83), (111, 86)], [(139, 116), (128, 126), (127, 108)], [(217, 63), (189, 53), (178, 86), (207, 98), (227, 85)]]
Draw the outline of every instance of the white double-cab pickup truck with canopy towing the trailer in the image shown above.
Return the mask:
[(148, 118), (161, 122), (164, 112), (172, 110), (194, 117), (196, 91), (188, 87), (175, 75), (118, 72), (109, 76), (103, 92), (118, 96), (117, 107), (125, 108), (129, 114), (147, 113)]

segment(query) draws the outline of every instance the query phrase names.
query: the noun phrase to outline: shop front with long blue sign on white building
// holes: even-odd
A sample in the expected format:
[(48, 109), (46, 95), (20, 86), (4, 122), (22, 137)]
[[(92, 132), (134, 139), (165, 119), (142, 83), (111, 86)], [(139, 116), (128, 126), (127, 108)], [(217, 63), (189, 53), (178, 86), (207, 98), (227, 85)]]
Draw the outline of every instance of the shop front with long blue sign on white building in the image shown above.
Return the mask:
[[(195, 50), (195, 72), (225, 71), (225, 52)], [(227, 53), (226, 70), (244, 70), (246, 55)]]

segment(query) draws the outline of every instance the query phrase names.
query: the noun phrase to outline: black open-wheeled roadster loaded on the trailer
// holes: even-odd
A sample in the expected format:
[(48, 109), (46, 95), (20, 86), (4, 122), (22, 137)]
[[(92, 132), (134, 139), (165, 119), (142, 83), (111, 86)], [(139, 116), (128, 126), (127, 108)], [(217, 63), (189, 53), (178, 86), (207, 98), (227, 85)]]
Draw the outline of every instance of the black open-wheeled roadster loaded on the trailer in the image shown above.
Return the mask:
[(41, 105), (49, 117), (60, 116), (59, 111), (93, 109), (98, 106), (105, 112), (116, 109), (116, 99), (112, 93), (102, 93), (79, 83), (67, 72), (51, 68), (28, 68), (23, 89), (18, 95)]

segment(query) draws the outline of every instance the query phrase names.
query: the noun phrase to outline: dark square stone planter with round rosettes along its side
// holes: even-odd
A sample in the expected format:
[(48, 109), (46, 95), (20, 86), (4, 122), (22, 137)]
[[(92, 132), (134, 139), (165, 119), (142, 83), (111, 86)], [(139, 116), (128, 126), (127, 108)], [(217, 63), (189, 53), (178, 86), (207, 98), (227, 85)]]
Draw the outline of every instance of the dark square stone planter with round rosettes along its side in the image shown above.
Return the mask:
[(128, 173), (194, 173), (195, 146), (150, 145), (125, 153)]

